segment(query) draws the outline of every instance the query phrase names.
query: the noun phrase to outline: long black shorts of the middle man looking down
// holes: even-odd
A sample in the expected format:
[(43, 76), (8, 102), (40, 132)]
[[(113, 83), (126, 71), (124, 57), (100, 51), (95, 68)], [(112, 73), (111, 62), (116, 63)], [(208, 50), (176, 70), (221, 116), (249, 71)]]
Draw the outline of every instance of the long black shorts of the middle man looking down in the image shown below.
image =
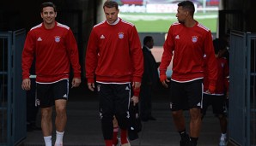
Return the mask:
[[(117, 118), (121, 128), (127, 127), (129, 108), (131, 104), (131, 84), (101, 84), (97, 83), (97, 92), (100, 100), (101, 120), (111, 122), (113, 115)], [(107, 120), (107, 121), (106, 121)]]

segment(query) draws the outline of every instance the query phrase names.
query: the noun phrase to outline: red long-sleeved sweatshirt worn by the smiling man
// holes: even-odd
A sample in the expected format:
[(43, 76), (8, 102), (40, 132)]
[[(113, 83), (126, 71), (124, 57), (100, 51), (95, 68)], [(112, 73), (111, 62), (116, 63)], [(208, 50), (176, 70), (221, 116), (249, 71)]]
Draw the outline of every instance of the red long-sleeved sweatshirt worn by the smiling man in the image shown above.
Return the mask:
[(76, 39), (68, 26), (55, 22), (52, 29), (43, 23), (31, 28), (22, 51), (22, 79), (29, 79), (34, 56), (37, 83), (69, 79), (70, 62), (74, 78), (81, 78)]

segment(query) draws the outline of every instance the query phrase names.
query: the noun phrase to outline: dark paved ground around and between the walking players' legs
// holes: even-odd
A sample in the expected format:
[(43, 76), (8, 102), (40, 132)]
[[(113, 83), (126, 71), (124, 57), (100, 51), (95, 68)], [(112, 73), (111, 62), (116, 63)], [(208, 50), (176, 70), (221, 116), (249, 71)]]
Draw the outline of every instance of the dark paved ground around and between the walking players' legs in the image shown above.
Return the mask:
[[(143, 130), (131, 146), (179, 146), (180, 136), (174, 128), (168, 109), (168, 93), (159, 90), (153, 99), (153, 115), (157, 120), (143, 122)], [(98, 102), (85, 87), (70, 91), (68, 122), (64, 134), (65, 146), (104, 146), (101, 123), (98, 117)], [(186, 113), (186, 119), (188, 114)], [(220, 136), (218, 120), (211, 111), (206, 115), (198, 146), (216, 146)], [(54, 142), (55, 134), (52, 134)], [(41, 131), (27, 132), (22, 146), (43, 146)]]

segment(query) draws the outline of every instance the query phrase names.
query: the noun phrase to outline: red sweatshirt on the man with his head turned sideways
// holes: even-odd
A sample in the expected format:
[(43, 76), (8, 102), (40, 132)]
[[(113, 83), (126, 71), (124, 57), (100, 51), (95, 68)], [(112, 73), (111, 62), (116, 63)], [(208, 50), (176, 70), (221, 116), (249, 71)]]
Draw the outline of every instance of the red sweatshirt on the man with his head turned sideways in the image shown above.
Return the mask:
[(178, 22), (170, 26), (168, 37), (163, 45), (160, 74), (165, 74), (172, 57), (172, 80), (187, 82), (204, 78), (204, 54), (209, 67), (209, 84), (216, 84), (216, 58), (211, 32), (196, 22), (195, 26), (186, 27)]

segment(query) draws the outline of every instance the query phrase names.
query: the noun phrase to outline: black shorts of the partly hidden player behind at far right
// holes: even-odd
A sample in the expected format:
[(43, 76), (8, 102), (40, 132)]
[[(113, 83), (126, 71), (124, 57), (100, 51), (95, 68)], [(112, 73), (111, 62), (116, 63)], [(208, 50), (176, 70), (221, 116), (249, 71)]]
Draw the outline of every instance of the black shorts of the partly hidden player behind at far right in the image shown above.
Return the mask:
[(225, 115), (225, 96), (216, 96), (204, 94), (202, 114), (205, 115), (207, 108), (212, 107), (212, 113), (215, 115)]

